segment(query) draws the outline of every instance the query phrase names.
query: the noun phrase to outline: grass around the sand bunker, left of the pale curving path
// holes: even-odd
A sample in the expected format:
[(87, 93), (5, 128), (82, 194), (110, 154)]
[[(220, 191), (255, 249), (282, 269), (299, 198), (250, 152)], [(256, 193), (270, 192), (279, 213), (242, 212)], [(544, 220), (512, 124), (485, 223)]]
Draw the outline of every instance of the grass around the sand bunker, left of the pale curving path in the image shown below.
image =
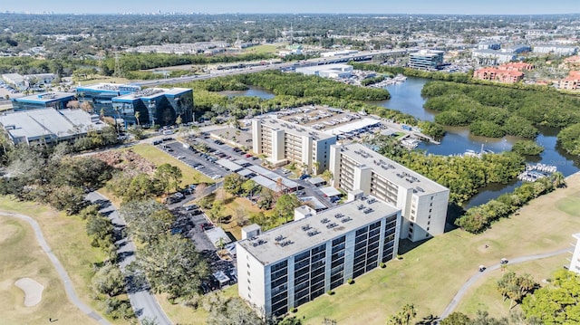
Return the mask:
[[(49, 318), (63, 324), (96, 324), (67, 300), (63, 282), (25, 221), (0, 216), (0, 315), (2, 324), (38, 324)], [(24, 292), (14, 285), (20, 278), (40, 282), (42, 301), (24, 306)]]

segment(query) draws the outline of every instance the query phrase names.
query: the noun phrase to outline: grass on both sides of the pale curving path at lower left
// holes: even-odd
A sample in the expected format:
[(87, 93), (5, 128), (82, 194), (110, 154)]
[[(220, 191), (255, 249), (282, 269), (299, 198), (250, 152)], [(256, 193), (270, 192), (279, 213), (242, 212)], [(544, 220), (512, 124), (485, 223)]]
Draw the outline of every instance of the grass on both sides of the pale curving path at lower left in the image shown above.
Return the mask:
[[(101, 250), (91, 246), (91, 240), (85, 232), (84, 222), (77, 216), (64, 215), (47, 206), (31, 202), (18, 202), (12, 196), (0, 196), (0, 210), (29, 215), (38, 222), (43, 230), (46, 242), (51, 246), (53, 253), (63, 263), (64, 269), (68, 272), (77, 295), (83, 302), (105, 317), (101, 303), (92, 300), (90, 289), (92, 265), (93, 263), (101, 262), (105, 256)], [(5, 217), (0, 218), (4, 219)], [(25, 231), (25, 233), (22, 234), (24, 241), (20, 243), (20, 246), (14, 246), (13, 251), (8, 251), (4, 246), (0, 246), (0, 253), (2, 254), (0, 255), (0, 261), (2, 261), (1, 274), (2, 282), (4, 283), (0, 290), (11, 288), (10, 284), (15, 278), (30, 274), (26, 276), (38, 277), (42, 281), (37, 281), (47, 283), (45, 285), (47, 300), (46, 303), (43, 302), (34, 307), (34, 309), (26, 309), (24, 311), (14, 305), (14, 300), (22, 303), (21, 299), (24, 299), (24, 295), (19, 293), (21, 296), (14, 296), (19, 289), (9, 289), (11, 304), (0, 303), (3, 306), (0, 307), (0, 314), (3, 315), (2, 319), (5, 319), (7, 315), (13, 315), (12, 312), (14, 312), (14, 323), (27, 323), (27, 321), (28, 323), (37, 323), (33, 320), (37, 316), (42, 316), (44, 320), (47, 320), (48, 317), (60, 319), (62, 316), (60, 321), (69, 324), (91, 323), (91, 319), (82, 317), (82, 313), (79, 316), (78, 310), (67, 301), (61, 287), (62, 283), (59, 278), (56, 278), (56, 273), (52, 264), (48, 262), (48, 257), (40, 251), (40, 246), (36, 244), (31, 228), (28, 226), (21, 228), (24, 230), (20, 231)], [(3, 237), (0, 236), (0, 238)], [(0, 297), (4, 297), (4, 294), (0, 295)], [(1, 298), (0, 302), (5, 302), (4, 298)], [(6, 311), (5, 313), (2, 308), (7, 308), (10, 311), (14, 308), (14, 311)], [(38, 311), (38, 313), (36, 314), (35, 311)], [(23, 312), (24, 314), (22, 314)], [(58, 312), (58, 314), (53, 315), (53, 312)], [(51, 315), (47, 316), (49, 313)], [(123, 320), (109, 319), (109, 321), (114, 324), (128, 323)]]

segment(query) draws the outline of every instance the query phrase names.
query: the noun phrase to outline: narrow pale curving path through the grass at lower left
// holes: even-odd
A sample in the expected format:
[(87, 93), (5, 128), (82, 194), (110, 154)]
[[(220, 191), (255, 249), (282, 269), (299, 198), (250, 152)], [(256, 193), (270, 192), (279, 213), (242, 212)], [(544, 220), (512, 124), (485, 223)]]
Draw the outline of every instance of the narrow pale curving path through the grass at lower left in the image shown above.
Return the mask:
[(66, 292), (66, 296), (69, 298), (69, 301), (73, 302), (73, 304), (78, 309), (87, 314), (93, 320), (98, 321), (100, 324), (110, 324), (107, 320), (103, 319), (101, 315), (99, 315), (96, 311), (93, 311), (91, 307), (84, 304), (84, 302), (82, 302), (81, 299), (79, 299), (79, 296), (76, 295), (69, 274), (64, 270), (63, 264), (61, 264), (61, 262), (56, 258), (56, 256), (53, 253), (53, 250), (46, 243), (43, 232), (40, 229), (40, 226), (38, 225), (36, 220), (34, 220), (28, 215), (19, 215), (4, 211), (1, 211), (0, 215), (18, 218), (30, 224), (34, 229), (34, 235), (36, 236), (38, 244), (40, 244), (40, 246), (43, 248), (44, 253), (48, 255), (48, 258), (51, 260), (51, 263), (53, 263), (56, 272), (58, 272), (58, 275), (61, 277), (61, 280), (63, 281), (64, 284), (64, 291)]

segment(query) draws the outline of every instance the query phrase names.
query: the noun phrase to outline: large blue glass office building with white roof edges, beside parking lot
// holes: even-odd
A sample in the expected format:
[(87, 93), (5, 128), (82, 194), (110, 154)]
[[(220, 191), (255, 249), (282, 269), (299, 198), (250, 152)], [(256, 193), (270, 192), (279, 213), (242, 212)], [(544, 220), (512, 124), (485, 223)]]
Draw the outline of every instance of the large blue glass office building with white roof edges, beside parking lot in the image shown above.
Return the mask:
[(141, 90), (131, 84), (100, 83), (77, 88), (77, 97), (89, 101), (97, 114), (122, 119), (126, 127), (171, 125), (178, 116), (182, 123), (193, 121), (193, 91), (187, 88)]

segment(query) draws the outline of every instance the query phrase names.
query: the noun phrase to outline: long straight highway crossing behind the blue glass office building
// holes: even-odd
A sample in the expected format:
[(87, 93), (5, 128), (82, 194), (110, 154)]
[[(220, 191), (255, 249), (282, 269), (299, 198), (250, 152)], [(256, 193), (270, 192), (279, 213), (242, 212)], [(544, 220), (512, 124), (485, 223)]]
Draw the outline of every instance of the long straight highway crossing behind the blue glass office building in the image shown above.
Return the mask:
[(412, 52), (414, 49), (399, 49), (399, 50), (379, 50), (379, 51), (364, 51), (359, 53), (353, 53), (348, 55), (341, 55), (341, 56), (333, 56), (327, 58), (314, 58), (308, 59), (301, 62), (281, 62), (281, 63), (274, 63), (274, 64), (266, 64), (266, 65), (257, 65), (249, 68), (242, 68), (242, 69), (230, 69), (230, 70), (220, 70), (220, 71), (212, 71), (208, 74), (198, 74), (193, 76), (184, 76), (179, 78), (167, 78), (167, 79), (156, 79), (150, 81), (136, 81), (132, 82), (138, 84), (140, 86), (155, 86), (159, 84), (173, 84), (173, 83), (180, 83), (180, 82), (189, 82), (189, 81), (198, 81), (198, 80), (207, 80), (216, 77), (225, 77), (231, 76), (235, 74), (243, 74), (243, 73), (254, 73), (254, 72), (263, 72), (266, 70), (285, 70), (291, 68), (298, 68), (298, 67), (307, 67), (307, 66), (314, 66), (314, 65), (322, 65), (322, 64), (332, 64), (332, 63), (344, 63), (353, 61), (368, 61), (371, 60), (373, 56), (376, 55), (394, 55), (394, 54), (404, 54), (408, 52)]

